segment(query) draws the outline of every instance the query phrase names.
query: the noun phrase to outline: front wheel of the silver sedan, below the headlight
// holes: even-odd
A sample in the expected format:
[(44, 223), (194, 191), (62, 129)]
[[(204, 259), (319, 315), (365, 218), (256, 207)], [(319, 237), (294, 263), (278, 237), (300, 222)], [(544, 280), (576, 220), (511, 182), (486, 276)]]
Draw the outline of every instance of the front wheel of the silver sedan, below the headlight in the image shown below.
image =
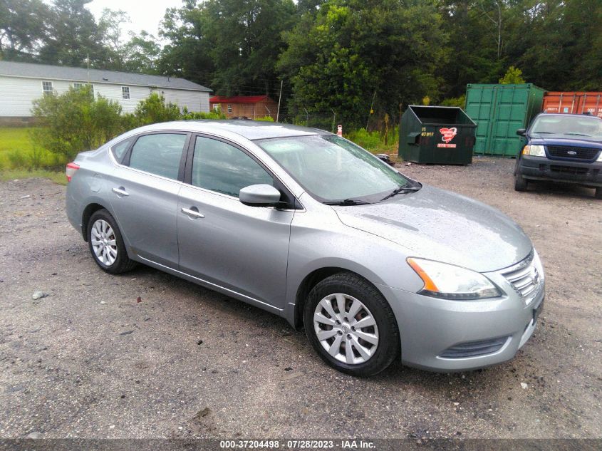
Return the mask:
[(308, 295), (303, 321), (313, 348), (343, 373), (375, 375), (399, 356), (393, 311), (372, 284), (355, 274), (319, 282)]

